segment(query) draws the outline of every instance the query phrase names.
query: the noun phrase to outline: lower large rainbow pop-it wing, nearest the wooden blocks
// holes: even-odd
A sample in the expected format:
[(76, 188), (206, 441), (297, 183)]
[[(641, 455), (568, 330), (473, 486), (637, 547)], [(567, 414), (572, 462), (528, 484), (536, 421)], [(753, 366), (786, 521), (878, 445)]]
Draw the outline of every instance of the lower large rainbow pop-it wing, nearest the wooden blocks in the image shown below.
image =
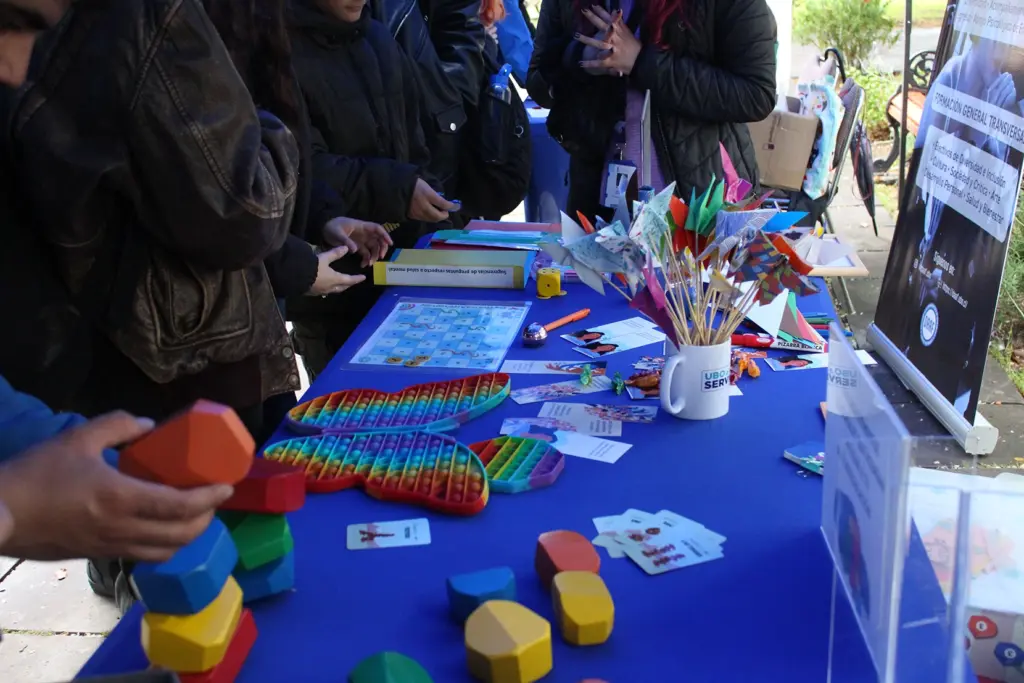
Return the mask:
[(263, 457), (303, 468), (311, 492), (361, 486), (374, 498), (461, 515), (487, 504), (483, 463), (444, 434), (325, 433), (274, 443)]

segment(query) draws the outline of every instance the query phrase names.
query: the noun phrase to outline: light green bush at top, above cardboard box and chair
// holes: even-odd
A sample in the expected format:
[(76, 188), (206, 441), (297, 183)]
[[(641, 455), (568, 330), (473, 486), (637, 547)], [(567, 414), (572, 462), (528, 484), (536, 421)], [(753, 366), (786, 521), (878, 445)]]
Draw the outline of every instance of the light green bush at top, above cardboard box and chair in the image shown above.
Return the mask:
[(871, 51), (899, 39), (889, 0), (803, 0), (794, 12), (798, 40), (819, 50), (835, 47), (846, 63), (863, 69)]

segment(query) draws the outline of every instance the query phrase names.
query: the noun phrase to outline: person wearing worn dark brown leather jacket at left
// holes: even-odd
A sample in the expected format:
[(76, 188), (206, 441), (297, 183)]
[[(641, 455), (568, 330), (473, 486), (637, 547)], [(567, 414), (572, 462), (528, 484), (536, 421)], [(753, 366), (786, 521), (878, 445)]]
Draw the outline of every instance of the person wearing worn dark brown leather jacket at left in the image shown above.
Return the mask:
[[(161, 420), (208, 398), (259, 436), (264, 400), (298, 388), (263, 265), (292, 220), (295, 137), (253, 105), (199, 0), (16, 6), (32, 22), (0, 27), (0, 159), (19, 220), (2, 229), (32, 247), (13, 286), (52, 284), (72, 314), (18, 334), (42, 356), (89, 346), (59, 408)], [(91, 561), (93, 591), (112, 596), (119, 567)]]

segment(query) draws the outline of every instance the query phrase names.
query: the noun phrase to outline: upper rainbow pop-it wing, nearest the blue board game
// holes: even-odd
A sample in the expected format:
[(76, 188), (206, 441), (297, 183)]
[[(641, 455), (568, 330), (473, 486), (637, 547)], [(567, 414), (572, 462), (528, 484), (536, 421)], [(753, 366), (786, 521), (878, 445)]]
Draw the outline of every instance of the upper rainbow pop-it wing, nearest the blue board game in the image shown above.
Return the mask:
[(449, 431), (499, 405), (512, 380), (502, 373), (417, 384), (398, 393), (336, 391), (296, 405), (288, 426), (296, 432)]

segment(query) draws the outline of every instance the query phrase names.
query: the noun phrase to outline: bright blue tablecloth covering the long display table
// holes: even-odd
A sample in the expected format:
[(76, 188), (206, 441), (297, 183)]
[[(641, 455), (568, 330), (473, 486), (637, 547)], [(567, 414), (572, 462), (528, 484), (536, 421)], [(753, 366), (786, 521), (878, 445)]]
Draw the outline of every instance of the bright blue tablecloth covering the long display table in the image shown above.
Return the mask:
[[(568, 296), (535, 300), (528, 318), (547, 323), (584, 306), (593, 309), (588, 327), (633, 315), (613, 292), (602, 299), (582, 285), (567, 289)], [(342, 372), (398, 296), (523, 300), (532, 292), (391, 290), (307, 396), (354, 387), (397, 390), (451, 379), (451, 374), (428, 370)], [(801, 306), (834, 310), (824, 293), (804, 299)], [(637, 356), (659, 351), (648, 346), (607, 356), (608, 369), (628, 375)], [(582, 356), (553, 335), (540, 349), (516, 343), (509, 357)], [(555, 668), (545, 681), (820, 683), (825, 680), (833, 587), (831, 562), (818, 528), (821, 481), (798, 476), (781, 456), (786, 446), (823, 440), (818, 402), (825, 398), (825, 377), (824, 370), (775, 373), (764, 368), (760, 379), (741, 382), (743, 396), (731, 399), (726, 417), (698, 423), (659, 412), (654, 424), (626, 424), (622, 439), (635, 445), (616, 464), (569, 458), (550, 488), (493, 494), (487, 508), (471, 518), (382, 503), (359, 490), (310, 496), (290, 516), (296, 590), (254, 608), (260, 636), (240, 683), (338, 683), (356, 663), (381, 650), (416, 658), (438, 683), (468, 681), (462, 628), (447, 615), (445, 580), (508, 565), (515, 571), (520, 601), (551, 620), (551, 596), (534, 570), (538, 536), (561, 528), (590, 538), (593, 517), (629, 508), (670, 509), (706, 524), (728, 537), (725, 557), (659, 577), (646, 575), (629, 559), (602, 557), (601, 575), (615, 601), (614, 633), (604, 645), (578, 648), (567, 645), (555, 627)], [(516, 375), (513, 388), (559, 379)], [(611, 392), (577, 400), (585, 399), (629, 401)], [(539, 409), (540, 403), (518, 405), (509, 399), (455, 434), (466, 443), (489, 438), (504, 418), (534, 417)], [(420, 516), (430, 519), (430, 546), (345, 549), (347, 524)], [(919, 597), (934, 604), (934, 594), (904, 594), (911, 602)], [(846, 600), (839, 605), (840, 679), (872, 680)], [(139, 616), (136, 607), (82, 673), (144, 668)], [(916, 680), (939, 680), (921, 673)]]

